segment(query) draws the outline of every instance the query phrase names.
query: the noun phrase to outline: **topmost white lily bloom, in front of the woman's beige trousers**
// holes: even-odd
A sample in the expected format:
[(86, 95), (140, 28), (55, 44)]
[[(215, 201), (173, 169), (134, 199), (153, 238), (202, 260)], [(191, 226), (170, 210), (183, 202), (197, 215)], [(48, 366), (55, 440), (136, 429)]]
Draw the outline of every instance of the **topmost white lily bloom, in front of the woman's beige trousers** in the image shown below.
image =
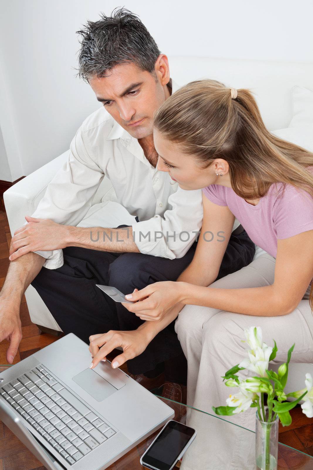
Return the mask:
[(239, 367), (251, 370), (261, 377), (267, 377), (266, 370), (273, 348), (262, 343), (262, 330), (260, 327), (251, 327), (244, 330), (247, 343), (251, 347), (248, 351), (249, 358), (245, 358)]

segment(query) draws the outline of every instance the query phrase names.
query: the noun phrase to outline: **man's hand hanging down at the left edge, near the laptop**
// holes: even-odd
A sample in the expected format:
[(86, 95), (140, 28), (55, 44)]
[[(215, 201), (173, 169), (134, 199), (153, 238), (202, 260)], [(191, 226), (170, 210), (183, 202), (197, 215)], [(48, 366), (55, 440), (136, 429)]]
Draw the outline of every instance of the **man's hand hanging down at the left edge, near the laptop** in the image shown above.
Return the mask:
[(4, 339), (10, 342), (7, 351), (7, 361), (9, 364), (13, 363), (22, 339), (19, 310), (19, 306), (0, 296), (0, 342)]

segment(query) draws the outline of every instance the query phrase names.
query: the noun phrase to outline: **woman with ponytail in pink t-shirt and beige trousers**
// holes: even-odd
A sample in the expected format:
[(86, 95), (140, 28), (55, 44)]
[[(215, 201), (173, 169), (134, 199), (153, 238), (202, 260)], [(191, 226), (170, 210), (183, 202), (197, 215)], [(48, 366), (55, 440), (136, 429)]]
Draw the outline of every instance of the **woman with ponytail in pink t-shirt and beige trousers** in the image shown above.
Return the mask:
[[(248, 90), (214, 80), (192, 82), (164, 102), (154, 143), (160, 170), (183, 189), (204, 188), (203, 225), (195, 256), (177, 282), (126, 296), (140, 300), (124, 305), (145, 323), (115, 362), (140, 354), (180, 312), (175, 329), (188, 360), (187, 403), (211, 412), (228, 393), (221, 376), (246, 355), (244, 328), (259, 325), (268, 345), (275, 338), (278, 362), (295, 342), (292, 360), (313, 363), (313, 154), (269, 133)], [(266, 253), (214, 282), (235, 217)], [(94, 363), (109, 341), (103, 335), (93, 345)], [(197, 416), (187, 424), (208, 428)], [(231, 419), (254, 428), (253, 409)], [(250, 468), (251, 436), (252, 442), (216, 419), (198, 433), (182, 469)]]

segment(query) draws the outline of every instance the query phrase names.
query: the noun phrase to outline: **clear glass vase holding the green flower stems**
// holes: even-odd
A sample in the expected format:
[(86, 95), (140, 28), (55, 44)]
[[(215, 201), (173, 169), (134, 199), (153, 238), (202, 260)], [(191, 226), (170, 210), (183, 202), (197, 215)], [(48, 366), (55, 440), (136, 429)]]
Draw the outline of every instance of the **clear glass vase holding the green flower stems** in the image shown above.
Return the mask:
[[(265, 408), (265, 419), (256, 413), (255, 427), (255, 469), (256, 470), (277, 470), (278, 458), (278, 423), (276, 416), (274, 421), (268, 422), (268, 407)], [(273, 419), (274, 413), (272, 412)]]

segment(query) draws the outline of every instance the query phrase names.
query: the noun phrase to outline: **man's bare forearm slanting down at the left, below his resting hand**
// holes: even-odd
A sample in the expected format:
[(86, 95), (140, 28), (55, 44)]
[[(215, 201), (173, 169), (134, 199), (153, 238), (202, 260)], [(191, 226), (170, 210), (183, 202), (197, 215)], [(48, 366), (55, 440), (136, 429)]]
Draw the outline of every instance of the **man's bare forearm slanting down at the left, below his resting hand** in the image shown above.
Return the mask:
[(11, 261), (0, 297), (14, 299), (17, 303), (21, 303), (25, 290), (37, 276), (45, 261), (45, 258), (33, 252)]

